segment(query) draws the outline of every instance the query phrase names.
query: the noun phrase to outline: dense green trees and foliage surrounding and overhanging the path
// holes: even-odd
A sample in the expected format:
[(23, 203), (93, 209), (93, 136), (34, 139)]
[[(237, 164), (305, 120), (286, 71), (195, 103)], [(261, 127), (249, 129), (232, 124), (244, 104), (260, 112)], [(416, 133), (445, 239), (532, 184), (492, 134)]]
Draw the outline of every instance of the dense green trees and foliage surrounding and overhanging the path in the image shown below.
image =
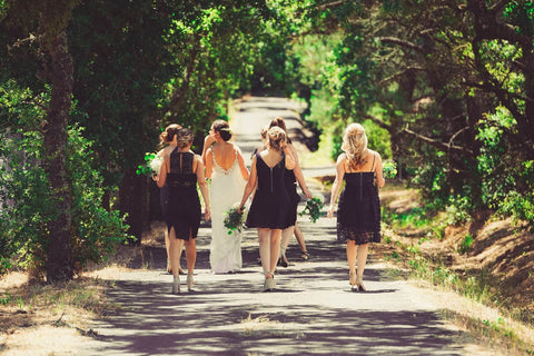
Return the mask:
[(533, 34), (526, 0), (0, 1), (2, 266), (139, 238), (135, 170), (160, 130), (191, 127), (200, 149), (249, 92), (306, 100), (333, 157), (363, 122), (458, 220), (533, 221)]

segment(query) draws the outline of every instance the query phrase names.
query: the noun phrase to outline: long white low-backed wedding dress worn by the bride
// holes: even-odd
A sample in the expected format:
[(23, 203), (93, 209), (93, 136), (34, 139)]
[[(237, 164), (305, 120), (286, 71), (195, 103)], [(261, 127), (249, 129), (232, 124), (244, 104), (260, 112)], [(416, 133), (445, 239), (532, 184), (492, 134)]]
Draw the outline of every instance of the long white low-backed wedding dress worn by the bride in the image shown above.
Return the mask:
[(216, 274), (236, 271), (243, 266), (241, 236), (235, 230), (228, 235), (224, 220), (226, 212), (243, 198), (246, 180), (236, 159), (228, 170), (222, 169), (214, 157), (214, 172), (209, 200), (211, 201), (211, 245), (209, 249), (209, 264)]

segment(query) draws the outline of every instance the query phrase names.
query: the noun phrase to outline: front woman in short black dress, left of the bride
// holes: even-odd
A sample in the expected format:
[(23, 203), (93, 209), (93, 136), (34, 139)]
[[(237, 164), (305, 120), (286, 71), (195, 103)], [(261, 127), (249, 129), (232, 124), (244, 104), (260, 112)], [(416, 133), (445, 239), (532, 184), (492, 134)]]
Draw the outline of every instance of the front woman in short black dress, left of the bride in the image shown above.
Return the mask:
[(184, 244), (187, 259), (187, 289), (191, 290), (194, 284), (192, 271), (197, 258), (196, 237), (201, 216), (197, 182), (206, 206), (205, 218), (209, 220), (210, 217), (208, 185), (204, 176), (202, 159), (191, 151), (191, 130), (178, 130), (169, 144), (172, 150), (164, 154), (164, 162), (158, 176), (158, 187), (165, 187), (164, 191), (168, 194), (164, 217), (170, 239), (172, 294), (180, 293), (179, 266)]

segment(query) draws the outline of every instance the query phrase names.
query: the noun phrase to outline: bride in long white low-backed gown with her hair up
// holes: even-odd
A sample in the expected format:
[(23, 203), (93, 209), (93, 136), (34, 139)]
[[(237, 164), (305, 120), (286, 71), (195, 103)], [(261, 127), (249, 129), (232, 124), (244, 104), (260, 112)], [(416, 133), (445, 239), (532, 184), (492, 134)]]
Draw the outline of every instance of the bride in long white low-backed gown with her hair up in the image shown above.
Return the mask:
[[(228, 122), (217, 120), (211, 125), (204, 144), (206, 177), (211, 178), (211, 245), (209, 264), (216, 274), (236, 271), (243, 266), (241, 233), (228, 235), (224, 220), (226, 211), (239, 204), (248, 180), (239, 148), (228, 142), (231, 131)], [(214, 144), (215, 142), (215, 144)]]

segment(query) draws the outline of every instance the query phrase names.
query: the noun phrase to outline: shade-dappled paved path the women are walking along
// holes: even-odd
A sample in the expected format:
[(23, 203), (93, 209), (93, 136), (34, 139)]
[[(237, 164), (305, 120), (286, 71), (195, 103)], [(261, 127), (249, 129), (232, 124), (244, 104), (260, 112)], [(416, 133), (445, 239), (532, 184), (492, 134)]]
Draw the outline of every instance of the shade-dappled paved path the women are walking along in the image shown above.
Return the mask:
[[(258, 144), (261, 125), (275, 115), (291, 122), (287, 100), (250, 98), (234, 118), (245, 152)], [(247, 154), (245, 154), (247, 155)], [(324, 169), (324, 168), (322, 168)], [(328, 169), (328, 168), (327, 168)], [(313, 169), (307, 170), (313, 172)], [(317, 187), (312, 186), (315, 191)], [(345, 248), (336, 243), (335, 220), (316, 224), (300, 217), (308, 261), (277, 271), (277, 290), (261, 293), (254, 230), (244, 237), (244, 268), (238, 274), (209, 271), (209, 226), (198, 237), (195, 291), (170, 294), (171, 276), (164, 274), (164, 246), (148, 251), (155, 269), (117, 276), (109, 298), (122, 308), (98, 322), (98, 338), (80, 345), (79, 355), (495, 355), (469, 334), (441, 318), (439, 299), (392, 277), (387, 265), (369, 256), (367, 293), (352, 293)], [(231, 237), (229, 237), (231, 238)], [(147, 254), (145, 254), (147, 258)], [(185, 263), (182, 261), (182, 265)], [(182, 278), (185, 279), (185, 278)], [(182, 284), (182, 289), (185, 284)]]

